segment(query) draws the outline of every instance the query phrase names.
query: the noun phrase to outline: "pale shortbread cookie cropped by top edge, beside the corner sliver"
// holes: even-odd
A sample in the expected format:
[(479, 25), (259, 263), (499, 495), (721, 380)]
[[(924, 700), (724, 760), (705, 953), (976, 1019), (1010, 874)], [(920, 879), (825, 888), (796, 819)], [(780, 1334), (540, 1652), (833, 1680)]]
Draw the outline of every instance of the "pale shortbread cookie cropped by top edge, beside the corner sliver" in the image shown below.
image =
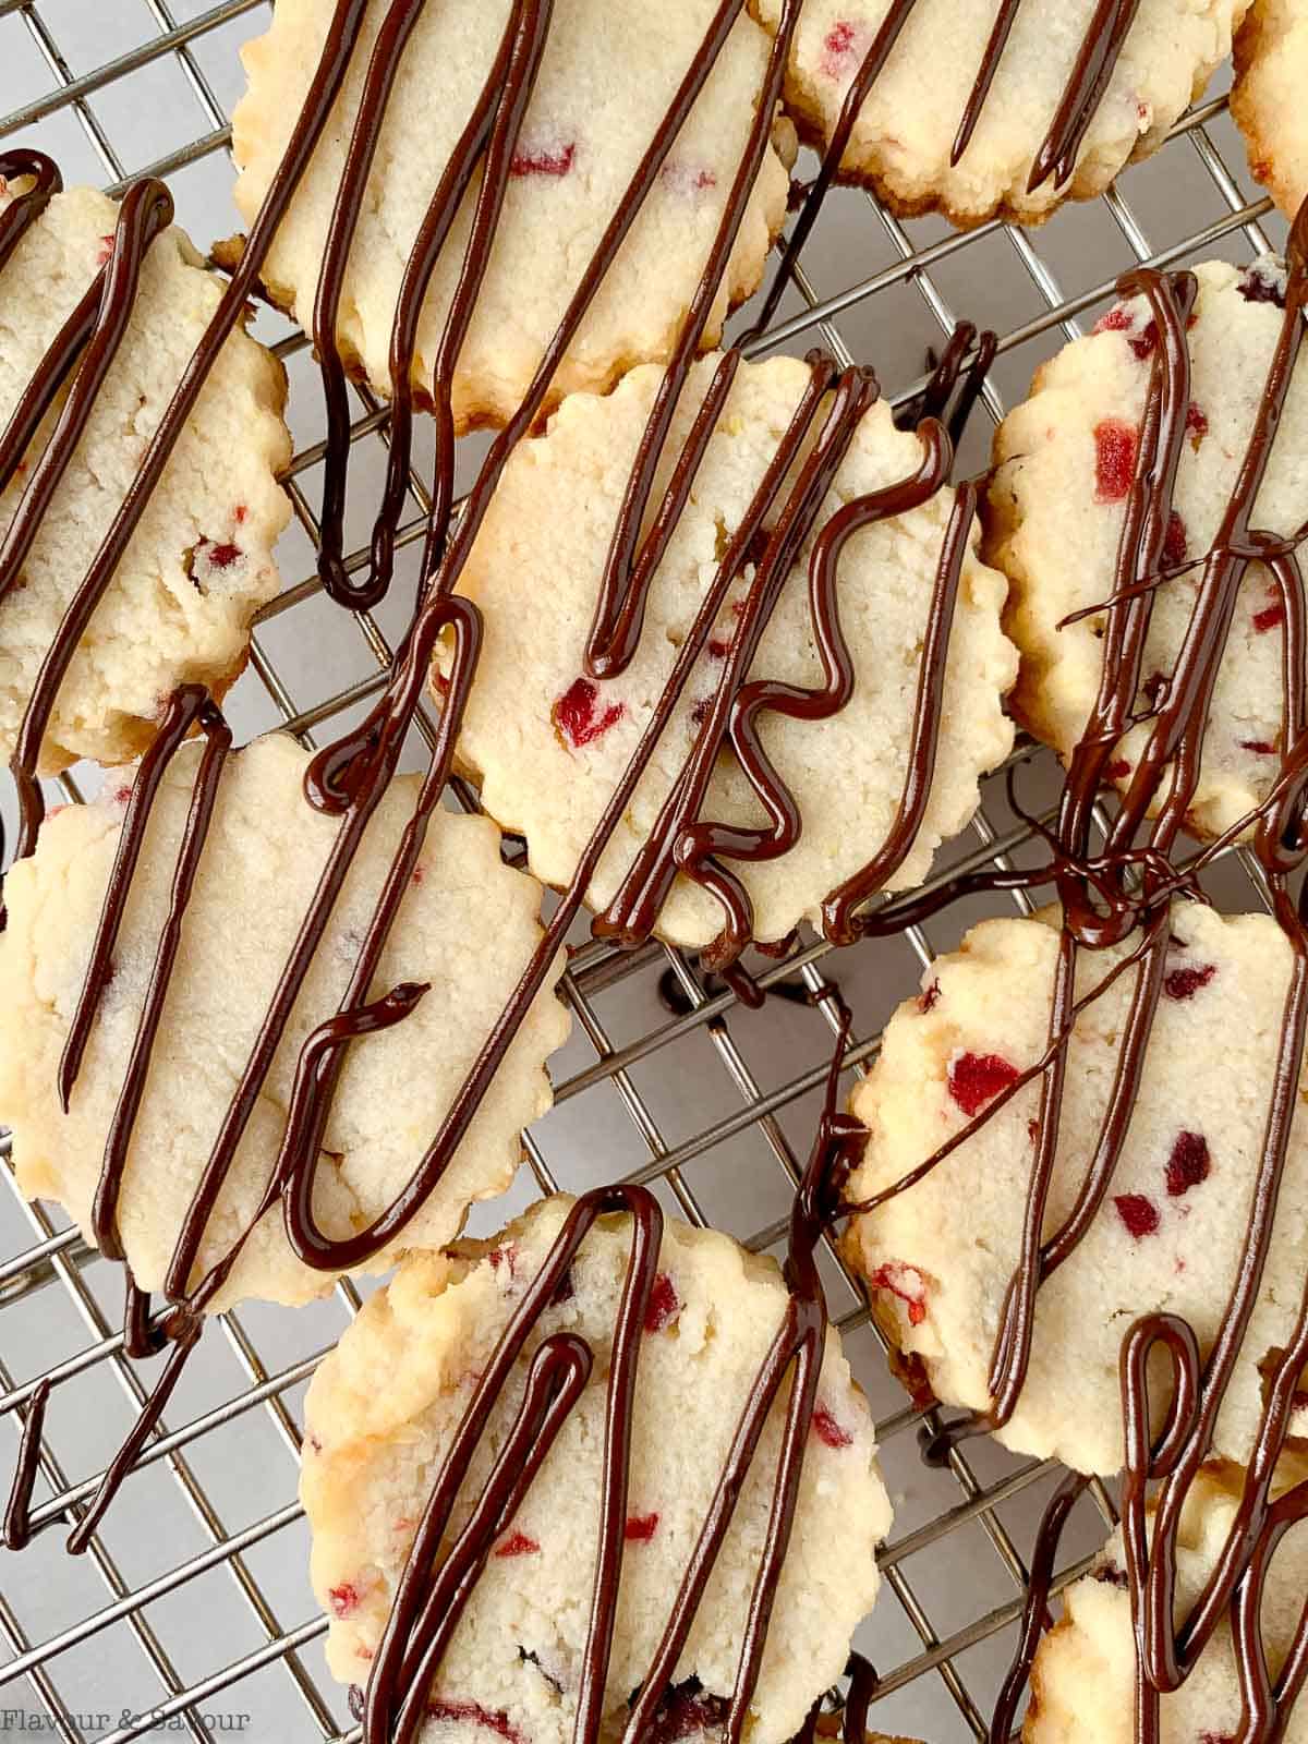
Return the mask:
[[(774, 26), (781, 0), (752, 0)], [(1031, 188), (1032, 166), (1069, 92), (1100, 0), (1025, 0), (982, 94), (996, 0), (917, 0), (855, 122), (841, 174), (874, 187), (902, 216), (944, 211), (975, 225), (996, 215), (1038, 223), (1062, 199), (1102, 194), (1125, 164), (1156, 152), (1230, 54), (1247, 0), (1142, 0), (1107, 89), (1062, 181)], [(889, 0), (807, 0), (787, 103), (830, 143), (846, 94), (891, 12)], [(964, 113), (982, 108), (957, 162)]]

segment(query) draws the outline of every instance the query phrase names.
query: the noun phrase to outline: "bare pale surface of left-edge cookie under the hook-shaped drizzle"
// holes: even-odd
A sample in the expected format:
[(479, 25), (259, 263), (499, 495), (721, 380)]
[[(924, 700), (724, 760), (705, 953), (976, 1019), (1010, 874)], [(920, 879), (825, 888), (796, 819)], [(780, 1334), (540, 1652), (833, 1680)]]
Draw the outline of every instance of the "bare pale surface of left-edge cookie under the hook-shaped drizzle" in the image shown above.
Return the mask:
[[(220, 787), (119, 1205), (126, 1256), (143, 1289), (162, 1282), (180, 1219), (340, 827), (303, 800), (307, 760), (290, 738), (256, 739), (228, 764)], [(113, 975), (66, 1116), (59, 1111), (56, 1069), (91, 954), (131, 771), (112, 773), (105, 797), (94, 804), (47, 818), (35, 856), (5, 881), (0, 1120), (14, 1130), (23, 1191), (58, 1200), (87, 1235), (197, 762), (199, 746), (185, 746), (155, 800)], [(208, 1226), (201, 1271), (230, 1250), (258, 1205), (283, 1134), (300, 1043), (337, 1010), (417, 787), (417, 778), (398, 778), (368, 827)], [(499, 834), (485, 820), (438, 809), (419, 872), (382, 956), (375, 992), (401, 980), (433, 985), (401, 1024), (349, 1050), (314, 1198), (328, 1235), (363, 1228), (408, 1181), (541, 933), (541, 891), (530, 877), (502, 865)], [(427, 1205), (364, 1270), (385, 1270), (398, 1247), (450, 1240), (469, 1202), (509, 1184), (521, 1155), (520, 1128), (549, 1107), (542, 1067), (567, 1029), (567, 1015), (546, 987)], [(244, 1296), (309, 1301), (330, 1282), (328, 1273), (310, 1271), (293, 1256), (277, 1207), (260, 1221), (215, 1306)]]

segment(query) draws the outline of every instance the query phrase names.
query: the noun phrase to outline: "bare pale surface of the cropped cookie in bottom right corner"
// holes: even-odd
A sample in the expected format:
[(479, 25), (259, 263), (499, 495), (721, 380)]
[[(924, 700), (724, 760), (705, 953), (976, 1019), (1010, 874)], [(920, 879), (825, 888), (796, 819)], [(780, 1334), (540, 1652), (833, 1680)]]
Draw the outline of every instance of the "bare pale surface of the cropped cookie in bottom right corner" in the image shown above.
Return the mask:
[[(1181, 1517), (1177, 1601), (1198, 1599), (1235, 1519), (1242, 1472), (1210, 1465), (1195, 1479)], [(1271, 1563), (1263, 1601), (1268, 1669), (1280, 1674), (1308, 1587), (1308, 1523), (1291, 1528)], [(1067, 1587), (1064, 1615), (1041, 1643), (1031, 1678), (1025, 1744), (1132, 1744), (1135, 1648), (1121, 1533), (1097, 1566)], [(1219, 1624), (1181, 1690), (1160, 1702), (1158, 1744), (1223, 1744), (1240, 1735), (1240, 1686), (1230, 1622)], [(1296, 1702), (1285, 1744), (1308, 1739), (1308, 1704)]]

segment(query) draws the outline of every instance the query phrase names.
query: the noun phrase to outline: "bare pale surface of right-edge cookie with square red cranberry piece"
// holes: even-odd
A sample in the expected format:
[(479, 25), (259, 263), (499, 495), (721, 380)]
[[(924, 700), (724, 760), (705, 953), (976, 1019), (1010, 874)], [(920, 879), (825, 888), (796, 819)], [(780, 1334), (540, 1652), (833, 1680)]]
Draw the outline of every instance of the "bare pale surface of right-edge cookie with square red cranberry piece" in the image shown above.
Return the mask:
[[(1191, 406), (1175, 488), (1175, 520), (1144, 649), (1139, 712), (1170, 675), (1195, 609), (1202, 558), (1223, 514), (1254, 427), (1282, 326), (1284, 269), (1198, 267), (1189, 328)], [(1032, 382), (1031, 398), (999, 426), (987, 502), (987, 558), (1012, 582), (1006, 628), (1022, 651), (1013, 710), (1066, 759), (1099, 689), (1104, 614), (1060, 621), (1113, 593), (1118, 539), (1134, 473), (1156, 333), (1142, 296), (1114, 305), (1087, 338), (1064, 347)], [(1308, 363), (1299, 359), (1252, 525), (1296, 532), (1308, 520)], [(1284, 612), (1270, 572), (1250, 563), (1223, 654), (1188, 813), (1200, 835), (1219, 835), (1261, 804), (1282, 746)], [(1107, 776), (1127, 785), (1151, 722), (1134, 727)]]

